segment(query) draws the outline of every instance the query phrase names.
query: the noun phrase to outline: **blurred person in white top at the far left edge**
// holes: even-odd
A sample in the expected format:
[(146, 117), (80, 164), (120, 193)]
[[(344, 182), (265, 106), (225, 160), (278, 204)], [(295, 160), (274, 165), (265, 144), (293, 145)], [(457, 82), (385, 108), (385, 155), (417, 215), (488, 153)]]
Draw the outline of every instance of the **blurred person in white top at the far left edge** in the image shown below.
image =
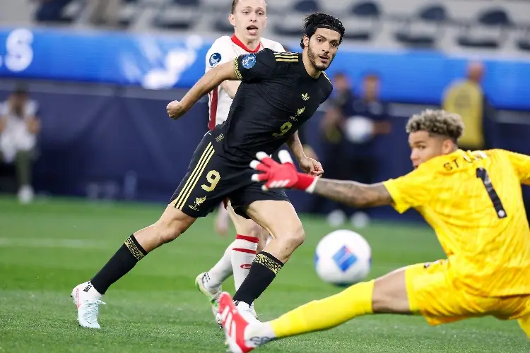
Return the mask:
[(21, 203), (33, 200), (31, 167), (40, 132), (37, 107), (37, 102), (30, 100), (23, 88), (16, 89), (0, 104), (0, 157), (5, 163), (15, 163)]

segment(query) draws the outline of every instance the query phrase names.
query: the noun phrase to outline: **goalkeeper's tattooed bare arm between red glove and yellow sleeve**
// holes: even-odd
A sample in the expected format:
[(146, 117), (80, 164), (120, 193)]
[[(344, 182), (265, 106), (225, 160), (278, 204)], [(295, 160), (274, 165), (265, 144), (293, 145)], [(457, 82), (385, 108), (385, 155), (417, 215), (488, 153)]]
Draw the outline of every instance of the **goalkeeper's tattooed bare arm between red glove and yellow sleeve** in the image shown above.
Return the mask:
[(354, 207), (390, 205), (392, 197), (382, 183), (361, 184), (356, 181), (319, 179), (314, 193)]

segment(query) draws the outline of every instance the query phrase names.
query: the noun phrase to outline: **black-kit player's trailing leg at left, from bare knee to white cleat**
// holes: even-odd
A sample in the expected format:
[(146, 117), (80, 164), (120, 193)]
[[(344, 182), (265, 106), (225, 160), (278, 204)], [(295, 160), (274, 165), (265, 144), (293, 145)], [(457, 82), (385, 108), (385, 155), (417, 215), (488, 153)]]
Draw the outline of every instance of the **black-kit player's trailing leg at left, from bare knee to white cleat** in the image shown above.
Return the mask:
[(176, 239), (188, 229), (195, 218), (182, 213), (170, 204), (160, 220), (128, 237), (114, 256), (88, 282), (77, 285), (71, 292), (77, 306), (79, 325), (100, 328), (98, 323), (101, 297), (117, 280), (128, 273), (144, 256), (158, 246)]

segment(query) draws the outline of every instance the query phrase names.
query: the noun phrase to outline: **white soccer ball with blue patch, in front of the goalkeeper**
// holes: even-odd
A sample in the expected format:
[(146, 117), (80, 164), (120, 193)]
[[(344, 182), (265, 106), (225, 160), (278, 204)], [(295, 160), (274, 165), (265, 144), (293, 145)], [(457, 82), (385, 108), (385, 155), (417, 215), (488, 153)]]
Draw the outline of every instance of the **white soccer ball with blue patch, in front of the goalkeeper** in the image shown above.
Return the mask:
[(370, 244), (348, 229), (327, 234), (319, 241), (314, 254), (317, 275), (332, 285), (353, 285), (364, 280), (371, 265)]

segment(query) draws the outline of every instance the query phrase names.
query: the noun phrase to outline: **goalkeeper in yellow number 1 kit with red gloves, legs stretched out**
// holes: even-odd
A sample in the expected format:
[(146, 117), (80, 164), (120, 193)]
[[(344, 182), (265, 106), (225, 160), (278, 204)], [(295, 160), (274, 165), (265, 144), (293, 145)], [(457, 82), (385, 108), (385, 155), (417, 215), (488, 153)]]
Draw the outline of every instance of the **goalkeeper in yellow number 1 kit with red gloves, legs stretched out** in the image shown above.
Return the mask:
[(414, 170), (404, 177), (371, 185), (312, 177), (298, 173), (281, 151), (282, 164), (260, 152), (260, 162), (251, 164), (260, 173), (252, 178), (264, 189), (299, 189), (355, 207), (415, 208), (447, 259), (400, 268), (266, 323), (247, 323), (223, 294), (220, 313), (232, 352), (376, 313), (422, 315), (431, 325), (495, 316), (519, 321), (530, 337), (530, 230), (521, 189), (530, 184), (530, 157), (460, 150), (464, 124), (443, 110), (413, 115), (406, 131)]

